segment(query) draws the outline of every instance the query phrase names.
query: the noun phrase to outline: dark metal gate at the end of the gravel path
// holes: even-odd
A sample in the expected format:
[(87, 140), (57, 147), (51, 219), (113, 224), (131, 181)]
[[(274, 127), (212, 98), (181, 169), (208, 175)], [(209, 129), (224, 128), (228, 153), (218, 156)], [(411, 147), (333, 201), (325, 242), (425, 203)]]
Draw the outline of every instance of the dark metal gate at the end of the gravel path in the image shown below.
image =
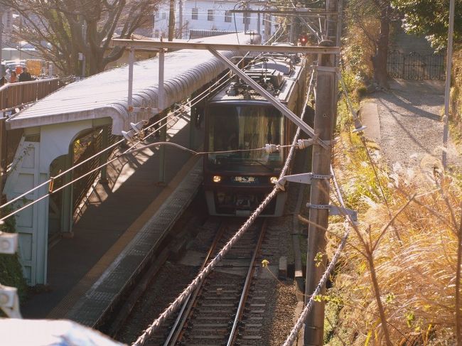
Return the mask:
[(392, 50), (388, 54), (387, 72), (389, 77), (403, 80), (444, 80), (444, 55)]

